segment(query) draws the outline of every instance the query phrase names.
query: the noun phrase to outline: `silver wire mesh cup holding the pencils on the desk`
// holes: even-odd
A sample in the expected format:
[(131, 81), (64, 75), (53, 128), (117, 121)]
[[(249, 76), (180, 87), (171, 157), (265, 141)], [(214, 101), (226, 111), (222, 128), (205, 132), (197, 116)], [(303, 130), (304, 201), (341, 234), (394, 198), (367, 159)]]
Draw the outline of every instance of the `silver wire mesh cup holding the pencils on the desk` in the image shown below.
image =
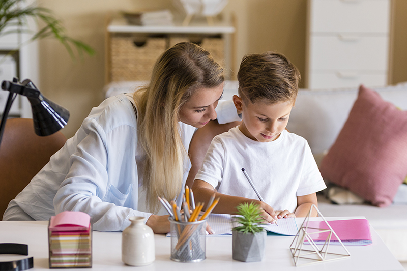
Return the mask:
[(178, 262), (199, 262), (206, 259), (206, 222), (175, 221), (171, 224), (171, 260)]

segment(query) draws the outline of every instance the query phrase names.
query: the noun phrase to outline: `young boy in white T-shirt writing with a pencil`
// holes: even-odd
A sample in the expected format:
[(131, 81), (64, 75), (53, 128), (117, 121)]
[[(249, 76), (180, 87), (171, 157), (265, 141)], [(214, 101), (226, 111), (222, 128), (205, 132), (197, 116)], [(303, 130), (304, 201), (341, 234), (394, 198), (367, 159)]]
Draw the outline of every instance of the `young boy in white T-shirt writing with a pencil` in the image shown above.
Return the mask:
[[(285, 130), (298, 93), (300, 73), (276, 52), (246, 55), (238, 73), (236, 108), (242, 124), (216, 136), (195, 176), (195, 201), (220, 197), (214, 213), (234, 214), (242, 202), (255, 201), (271, 223), (305, 217), (315, 192), (326, 188), (307, 141)], [(252, 180), (251, 187), (242, 168)], [(316, 215), (316, 214), (314, 214)]]

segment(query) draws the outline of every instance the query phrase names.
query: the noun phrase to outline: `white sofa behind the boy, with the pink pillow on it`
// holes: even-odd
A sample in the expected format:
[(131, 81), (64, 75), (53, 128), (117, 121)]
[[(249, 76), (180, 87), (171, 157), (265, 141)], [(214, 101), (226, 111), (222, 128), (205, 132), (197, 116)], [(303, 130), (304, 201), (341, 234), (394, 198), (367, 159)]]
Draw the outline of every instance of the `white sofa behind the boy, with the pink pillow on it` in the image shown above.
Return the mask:
[[(129, 92), (139, 84), (140, 82), (112, 83), (105, 88), (106, 96)], [(237, 94), (237, 89), (236, 81), (225, 82), (224, 99), (231, 99), (232, 95)], [(379, 92), (384, 100), (407, 110), (406, 83), (373, 89)], [(300, 89), (287, 129), (308, 140), (317, 162), (324, 151), (334, 143), (357, 94), (357, 88), (321, 91)], [(394, 256), (399, 261), (407, 261), (407, 204), (392, 204), (385, 208), (368, 204), (338, 205), (332, 204), (323, 195), (318, 195), (318, 208), (326, 217), (366, 217)]]

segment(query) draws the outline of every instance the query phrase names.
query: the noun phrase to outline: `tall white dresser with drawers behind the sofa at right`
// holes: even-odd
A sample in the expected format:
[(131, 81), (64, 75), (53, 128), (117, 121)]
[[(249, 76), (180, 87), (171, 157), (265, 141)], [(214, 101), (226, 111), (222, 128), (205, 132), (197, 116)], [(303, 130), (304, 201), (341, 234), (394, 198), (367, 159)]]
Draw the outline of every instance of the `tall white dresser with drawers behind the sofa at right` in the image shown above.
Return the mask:
[(391, 0), (309, 0), (309, 89), (388, 83)]

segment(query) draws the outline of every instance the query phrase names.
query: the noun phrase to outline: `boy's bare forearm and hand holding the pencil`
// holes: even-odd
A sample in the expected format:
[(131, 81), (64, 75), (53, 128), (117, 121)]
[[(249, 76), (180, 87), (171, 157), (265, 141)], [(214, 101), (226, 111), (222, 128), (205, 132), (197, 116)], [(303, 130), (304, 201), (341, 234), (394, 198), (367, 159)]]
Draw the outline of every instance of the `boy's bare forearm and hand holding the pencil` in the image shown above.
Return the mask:
[(219, 203), (213, 209), (213, 213), (231, 214), (231, 215), (236, 214), (237, 205), (244, 202), (250, 203), (254, 201), (260, 206), (260, 208), (263, 209), (263, 214), (261, 216), (263, 217), (264, 220), (266, 220), (267, 222), (274, 222), (275, 221), (274, 217), (277, 218), (274, 209), (265, 202), (245, 197), (225, 195), (216, 192), (212, 185), (200, 179), (196, 179), (194, 181), (192, 190), (194, 191), (194, 197), (196, 202), (205, 202), (205, 209), (213, 193), (215, 193), (215, 198), (218, 197), (220, 198)]

